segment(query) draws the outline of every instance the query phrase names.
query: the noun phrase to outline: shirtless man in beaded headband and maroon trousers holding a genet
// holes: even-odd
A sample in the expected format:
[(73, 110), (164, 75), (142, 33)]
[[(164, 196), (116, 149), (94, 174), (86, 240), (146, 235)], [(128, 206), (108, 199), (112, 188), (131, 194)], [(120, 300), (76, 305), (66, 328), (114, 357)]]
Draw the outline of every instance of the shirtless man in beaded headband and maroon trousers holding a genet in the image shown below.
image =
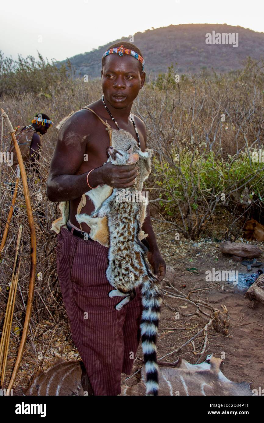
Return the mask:
[[(122, 44), (142, 56), (134, 44)], [(120, 47), (120, 43), (109, 48), (114, 47)], [(133, 101), (145, 82), (142, 63), (129, 54), (112, 53), (103, 58), (102, 68), (106, 107), (119, 128), (130, 132), (137, 140), (129, 115)], [(89, 104), (89, 107), (117, 129), (102, 99)], [(132, 187), (137, 166), (115, 166), (111, 162), (103, 165), (108, 159), (109, 135), (97, 116), (86, 109), (78, 110), (61, 126), (47, 180), (47, 197), (50, 201), (70, 201), (67, 227), (61, 227), (58, 233), (57, 271), (72, 338), (86, 367), (94, 395), (113, 396), (121, 392), (121, 372), (131, 374), (136, 356), (142, 311), (140, 288), (136, 289), (133, 301), (121, 310), (115, 310), (118, 300), (108, 297), (112, 287), (105, 275), (108, 248), (91, 239), (81, 239), (75, 214), (81, 196), (91, 189), (89, 186)], [(134, 122), (140, 147), (145, 151), (145, 125), (135, 115)], [(85, 154), (88, 154), (88, 161), (84, 161)], [(86, 176), (90, 170), (88, 186)], [(93, 203), (87, 198), (81, 213), (92, 214), (92, 211)], [(89, 233), (89, 226), (85, 223), (81, 226)], [(148, 234), (147, 258), (153, 273), (161, 281), (166, 264), (158, 250), (148, 208), (142, 229)]]

